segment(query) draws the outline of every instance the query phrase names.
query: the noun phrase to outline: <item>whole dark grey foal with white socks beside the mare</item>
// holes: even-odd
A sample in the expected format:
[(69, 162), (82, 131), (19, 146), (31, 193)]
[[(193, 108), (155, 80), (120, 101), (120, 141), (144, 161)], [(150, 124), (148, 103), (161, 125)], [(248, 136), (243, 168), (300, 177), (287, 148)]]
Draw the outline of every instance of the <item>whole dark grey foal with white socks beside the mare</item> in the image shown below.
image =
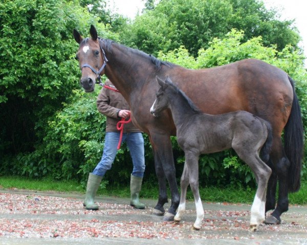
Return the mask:
[(157, 116), (161, 111), (170, 109), (177, 128), (177, 142), (185, 153), (180, 204), (174, 220), (181, 220), (190, 184), (196, 206), (193, 227), (200, 229), (204, 209), (199, 194), (199, 155), (232, 148), (250, 166), (258, 184), (250, 219), (250, 230), (255, 231), (265, 220), (267, 185), (272, 173), (259, 157), (262, 148), (262, 158), (265, 161), (269, 159), (272, 144), (270, 123), (246, 111), (220, 115), (202, 113), (169, 78), (164, 82), (157, 77), (157, 81), (161, 88), (150, 113)]

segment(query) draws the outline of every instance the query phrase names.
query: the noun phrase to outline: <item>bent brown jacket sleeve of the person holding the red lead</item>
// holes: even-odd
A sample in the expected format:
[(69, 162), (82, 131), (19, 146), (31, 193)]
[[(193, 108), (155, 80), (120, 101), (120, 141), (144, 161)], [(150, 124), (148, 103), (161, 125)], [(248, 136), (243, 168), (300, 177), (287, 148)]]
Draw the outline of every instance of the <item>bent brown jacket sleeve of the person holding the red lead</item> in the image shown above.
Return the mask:
[(109, 91), (108, 89), (103, 87), (100, 90), (100, 93), (98, 94), (97, 98), (98, 111), (108, 117), (119, 118), (118, 112), (120, 111), (120, 109), (110, 106), (109, 104), (110, 104)]

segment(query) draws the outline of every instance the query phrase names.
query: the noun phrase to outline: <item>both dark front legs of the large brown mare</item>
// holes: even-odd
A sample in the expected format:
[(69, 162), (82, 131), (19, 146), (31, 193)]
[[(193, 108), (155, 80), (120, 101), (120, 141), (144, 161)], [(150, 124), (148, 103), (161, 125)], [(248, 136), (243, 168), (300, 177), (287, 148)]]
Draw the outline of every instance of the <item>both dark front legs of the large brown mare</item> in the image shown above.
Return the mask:
[(174, 219), (180, 201), (170, 136), (150, 132), (150, 139), (155, 155), (156, 174), (159, 181), (159, 201), (155, 209), (163, 212), (163, 205), (167, 202), (166, 177), (171, 192), (171, 205), (168, 212), (165, 213), (163, 220), (170, 221)]

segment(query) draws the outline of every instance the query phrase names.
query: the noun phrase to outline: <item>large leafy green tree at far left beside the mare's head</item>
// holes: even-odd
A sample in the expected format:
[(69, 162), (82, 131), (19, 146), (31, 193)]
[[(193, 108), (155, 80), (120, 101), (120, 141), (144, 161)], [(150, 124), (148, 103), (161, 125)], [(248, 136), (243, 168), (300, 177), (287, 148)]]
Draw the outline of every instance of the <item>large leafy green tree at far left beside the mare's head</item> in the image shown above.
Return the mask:
[(5, 0), (0, 3), (0, 156), (32, 152), (48, 117), (79, 88), (72, 30), (96, 23), (78, 1)]

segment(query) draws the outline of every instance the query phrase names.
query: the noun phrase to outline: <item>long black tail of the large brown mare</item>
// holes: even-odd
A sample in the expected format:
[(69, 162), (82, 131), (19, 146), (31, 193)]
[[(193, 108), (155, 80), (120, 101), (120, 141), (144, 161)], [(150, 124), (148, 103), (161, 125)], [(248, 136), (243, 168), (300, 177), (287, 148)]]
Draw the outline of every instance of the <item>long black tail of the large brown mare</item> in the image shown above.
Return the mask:
[(304, 130), (301, 116), (301, 110), (298, 103), (297, 95), (294, 88), (294, 81), (289, 78), (293, 88), (293, 102), (286, 127), (284, 127), (284, 151), (290, 161), (289, 167), (289, 183), (290, 192), (298, 191), (300, 188), (300, 172), (303, 158), (304, 147)]

